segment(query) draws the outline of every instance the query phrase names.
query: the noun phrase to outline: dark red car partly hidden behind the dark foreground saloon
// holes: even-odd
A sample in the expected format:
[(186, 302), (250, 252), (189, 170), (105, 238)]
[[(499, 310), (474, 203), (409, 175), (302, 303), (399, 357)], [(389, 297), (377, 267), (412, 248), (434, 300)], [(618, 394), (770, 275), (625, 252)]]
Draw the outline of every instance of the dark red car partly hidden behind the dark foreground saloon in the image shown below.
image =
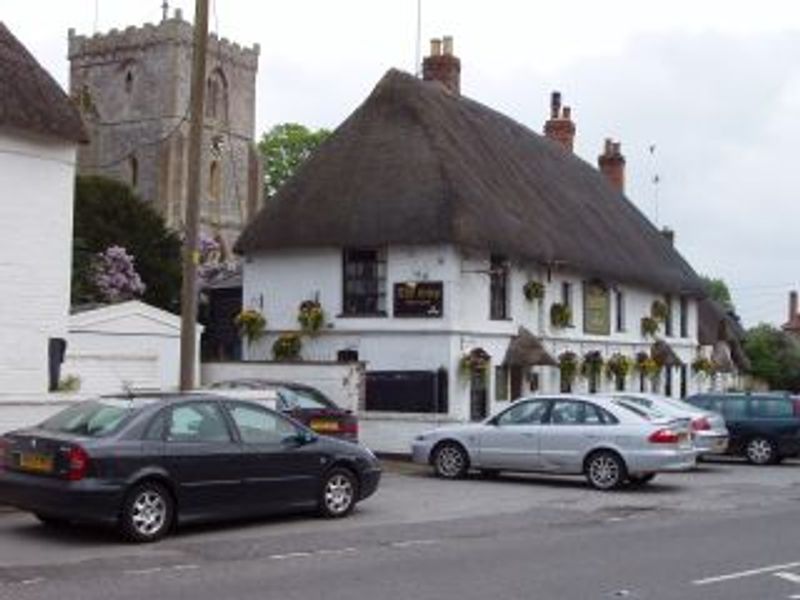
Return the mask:
[(251, 392), (248, 398), (263, 400), (320, 435), (358, 441), (358, 418), (311, 386), (269, 379), (230, 379), (212, 383), (208, 389)]

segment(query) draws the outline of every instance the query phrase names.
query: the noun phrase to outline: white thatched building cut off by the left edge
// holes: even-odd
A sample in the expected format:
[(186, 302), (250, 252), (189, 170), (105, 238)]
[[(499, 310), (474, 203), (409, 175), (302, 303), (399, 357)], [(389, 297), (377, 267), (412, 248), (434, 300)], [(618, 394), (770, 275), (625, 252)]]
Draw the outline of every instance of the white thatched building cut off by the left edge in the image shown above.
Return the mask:
[(0, 395), (42, 395), (63, 354), (75, 159), (67, 95), (0, 23)]

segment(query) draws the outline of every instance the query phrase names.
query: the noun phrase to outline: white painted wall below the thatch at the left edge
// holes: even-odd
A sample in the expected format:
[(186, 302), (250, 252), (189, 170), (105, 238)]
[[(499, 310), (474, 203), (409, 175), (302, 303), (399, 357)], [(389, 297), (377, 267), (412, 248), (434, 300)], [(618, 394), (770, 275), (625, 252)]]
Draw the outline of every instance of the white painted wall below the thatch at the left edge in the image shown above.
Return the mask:
[(72, 143), (0, 129), (0, 390), (47, 391), (48, 338), (66, 337)]

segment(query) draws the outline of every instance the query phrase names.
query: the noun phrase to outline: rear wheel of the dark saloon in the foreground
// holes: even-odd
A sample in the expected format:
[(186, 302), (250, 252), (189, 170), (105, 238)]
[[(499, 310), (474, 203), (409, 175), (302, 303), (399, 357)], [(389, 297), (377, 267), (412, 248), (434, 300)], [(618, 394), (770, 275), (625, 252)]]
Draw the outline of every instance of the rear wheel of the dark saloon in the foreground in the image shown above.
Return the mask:
[(120, 530), (131, 542), (155, 542), (172, 526), (175, 502), (166, 487), (146, 481), (128, 492), (122, 505)]

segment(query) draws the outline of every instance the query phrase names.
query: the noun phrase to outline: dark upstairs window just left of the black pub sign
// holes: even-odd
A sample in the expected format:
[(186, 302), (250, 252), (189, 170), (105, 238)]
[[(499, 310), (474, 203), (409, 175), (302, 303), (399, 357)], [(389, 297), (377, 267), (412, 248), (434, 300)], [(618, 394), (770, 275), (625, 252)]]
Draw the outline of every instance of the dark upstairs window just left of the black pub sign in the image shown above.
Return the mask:
[[(355, 261), (349, 258), (349, 255), (353, 253), (374, 253), (374, 259), (371, 261), (367, 260), (359, 260)], [(359, 318), (359, 317), (386, 317), (386, 290), (388, 288), (388, 261), (387, 261), (387, 252), (385, 248), (379, 247), (366, 247), (366, 246), (358, 246), (358, 247), (347, 247), (342, 248), (342, 311), (339, 315), (340, 317), (350, 317), (350, 318)], [(358, 277), (358, 273), (356, 276), (351, 277), (348, 273), (350, 269), (348, 267), (350, 265), (361, 265), (360, 267), (354, 268), (353, 270), (366, 270), (363, 265), (371, 265), (375, 272), (374, 278), (367, 278)], [(349, 292), (348, 291), (348, 284), (349, 283), (360, 283), (365, 286), (369, 286), (370, 284), (374, 284), (374, 290), (370, 290), (369, 292)], [(362, 310), (363, 305), (369, 301), (369, 299), (374, 299), (375, 303), (375, 310), (368, 311)], [(351, 305), (361, 305), (356, 306), (354, 310), (350, 310), (349, 307)]]

